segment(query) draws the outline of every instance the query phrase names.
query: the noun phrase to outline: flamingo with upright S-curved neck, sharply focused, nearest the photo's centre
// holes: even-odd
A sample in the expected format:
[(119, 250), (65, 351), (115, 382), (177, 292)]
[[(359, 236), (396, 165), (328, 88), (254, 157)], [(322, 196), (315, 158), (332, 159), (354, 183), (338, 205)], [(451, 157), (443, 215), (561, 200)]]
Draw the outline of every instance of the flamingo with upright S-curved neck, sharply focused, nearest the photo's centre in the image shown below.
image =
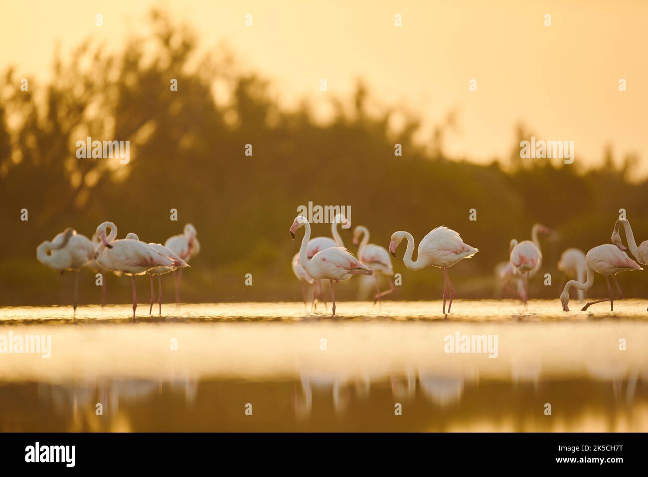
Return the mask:
[(304, 270), (310, 278), (315, 280), (329, 280), (330, 282), (330, 297), (333, 302), (332, 310), (333, 317), (335, 317), (335, 292), (334, 284), (340, 280), (348, 280), (352, 275), (373, 275), (373, 271), (359, 262), (356, 258), (343, 247), (329, 247), (322, 251), (317, 252), (308, 260), (308, 241), (310, 241), (310, 224), (306, 217), (297, 215), (292, 225), (290, 226), (290, 236), (295, 239), (295, 232), (300, 227), (306, 227), (304, 238), (301, 240), (301, 248), (299, 249), (299, 263), (304, 267)]

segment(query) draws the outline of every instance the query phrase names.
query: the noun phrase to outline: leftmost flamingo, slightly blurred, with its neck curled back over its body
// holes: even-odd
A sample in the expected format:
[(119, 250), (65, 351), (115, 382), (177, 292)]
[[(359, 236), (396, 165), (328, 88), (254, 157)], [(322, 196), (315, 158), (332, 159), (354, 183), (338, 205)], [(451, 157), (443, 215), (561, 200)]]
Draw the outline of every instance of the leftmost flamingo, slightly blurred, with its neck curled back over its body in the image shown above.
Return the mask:
[(77, 234), (71, 227), (57, 234), (52, 241), (45, 240), (36, 247), (36, 259), (53, 270), (64, 273), (75, 272), (75, 299), (72, 304), (76, 316), (79, 287), (79, 270), (95, 258), (95, 247), (84, 235)]

